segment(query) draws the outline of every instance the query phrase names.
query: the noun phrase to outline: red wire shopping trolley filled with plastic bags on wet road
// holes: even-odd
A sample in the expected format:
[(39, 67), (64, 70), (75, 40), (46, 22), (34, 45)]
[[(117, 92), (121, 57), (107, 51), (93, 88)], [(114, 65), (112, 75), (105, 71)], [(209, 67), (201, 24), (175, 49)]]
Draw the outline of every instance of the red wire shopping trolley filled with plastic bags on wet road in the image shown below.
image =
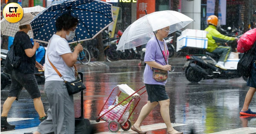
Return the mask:
[(120, 127), (124, 131), (129, 130), (132, 127), (129, 117), (141, 100), (140, 96), (144, 94), (146, 90), (141, 94), (137, 92), (144, 87), (145, 86), (141, 87), (137, 91), (132, 90), (127, 84), (114, 87), (95, 121), (99, 122), (100, 119), (102, 119), (108, 122), (109, 130), (114, 133), (117, 132)]

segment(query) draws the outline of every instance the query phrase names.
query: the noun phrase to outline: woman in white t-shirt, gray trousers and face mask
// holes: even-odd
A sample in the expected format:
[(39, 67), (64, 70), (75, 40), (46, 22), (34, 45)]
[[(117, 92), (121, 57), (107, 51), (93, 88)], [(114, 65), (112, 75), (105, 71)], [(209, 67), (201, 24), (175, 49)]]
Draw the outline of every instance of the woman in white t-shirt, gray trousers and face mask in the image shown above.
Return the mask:
[[(45, 54), (45, 93), (49, 100), (50, 109), (48, 118), (41, 122), (34, 134), (74, 134), (75, 133), (75, 112), (73, 95), (67, 92), (66, 81), (75, 80), (73, 68), (78, 53), (83, 50), (80, 43), (72, 53), (67, 40), (75, 36), (75, 28), (78, 20), (70, 14), (63, 14), (56, 20), (57, 32), (49, 41)], [(56, 73), (50, 62), (63, 76), (63, 79)]]

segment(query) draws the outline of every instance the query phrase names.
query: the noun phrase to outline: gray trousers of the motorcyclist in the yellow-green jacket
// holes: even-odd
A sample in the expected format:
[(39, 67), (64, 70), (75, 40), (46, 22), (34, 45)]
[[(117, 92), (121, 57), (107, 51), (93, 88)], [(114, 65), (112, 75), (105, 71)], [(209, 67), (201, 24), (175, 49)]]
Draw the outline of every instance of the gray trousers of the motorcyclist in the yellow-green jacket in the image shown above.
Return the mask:
[(226, 62), (230, 55), (230, 47), (229, 46), (218, 46), (212, 53), (220, 55), (219, 61)]

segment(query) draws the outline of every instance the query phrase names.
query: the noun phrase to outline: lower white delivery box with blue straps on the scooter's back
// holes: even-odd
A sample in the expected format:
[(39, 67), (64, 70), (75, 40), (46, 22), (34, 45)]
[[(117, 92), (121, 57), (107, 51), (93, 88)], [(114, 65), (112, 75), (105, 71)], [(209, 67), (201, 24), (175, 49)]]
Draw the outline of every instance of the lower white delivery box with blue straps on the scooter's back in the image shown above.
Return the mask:
[(177, 38), (176, 52), (189, 52), (194, 50), (204, 50), (207, 48), (208, 38), (191, 36), (179, 36)]

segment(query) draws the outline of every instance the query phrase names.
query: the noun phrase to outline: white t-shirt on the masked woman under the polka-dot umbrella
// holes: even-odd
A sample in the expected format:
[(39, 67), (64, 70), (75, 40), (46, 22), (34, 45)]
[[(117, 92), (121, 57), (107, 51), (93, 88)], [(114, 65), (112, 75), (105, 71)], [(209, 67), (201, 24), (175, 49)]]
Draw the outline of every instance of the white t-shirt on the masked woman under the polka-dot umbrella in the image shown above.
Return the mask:
[(67, 40), (54, 34), (50, 39), (50, 44), (48, 44), (47, 50), (45, 52), (45, 81), (64, 81), (49, 63), (48, 56), (51, 63), (55, 66), (55, 68), (58, 69), (66, 81), (71, 82), (75, 80), (74, 67), (67, 66), (67, 64), (60, 56), (66, 53), (72, 53)]

